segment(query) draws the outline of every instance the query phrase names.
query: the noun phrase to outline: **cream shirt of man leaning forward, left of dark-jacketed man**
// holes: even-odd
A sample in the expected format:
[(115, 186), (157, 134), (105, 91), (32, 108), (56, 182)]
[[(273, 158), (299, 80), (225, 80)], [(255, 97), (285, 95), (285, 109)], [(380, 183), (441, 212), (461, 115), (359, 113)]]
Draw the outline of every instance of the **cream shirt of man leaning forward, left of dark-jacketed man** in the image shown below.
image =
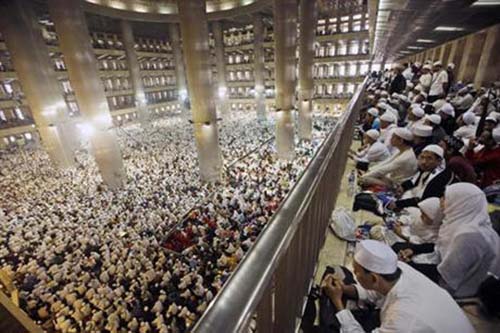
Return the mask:
[(417, 167), (415, 152), (408, 148), (380, 162), (363, 177), (387, 177), (394, 182), (401, 183), (412, 177), (417, 172)]

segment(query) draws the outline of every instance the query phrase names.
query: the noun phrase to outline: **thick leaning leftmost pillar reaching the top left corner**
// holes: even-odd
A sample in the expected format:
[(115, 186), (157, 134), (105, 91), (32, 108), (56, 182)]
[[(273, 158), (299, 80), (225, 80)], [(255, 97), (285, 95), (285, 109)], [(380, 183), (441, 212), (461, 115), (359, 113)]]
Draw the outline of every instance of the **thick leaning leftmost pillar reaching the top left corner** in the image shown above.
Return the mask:
[(31, 4), (2, 2), (0, 29), (51, 161), (58, 167), (71, 166), (67, 106)]

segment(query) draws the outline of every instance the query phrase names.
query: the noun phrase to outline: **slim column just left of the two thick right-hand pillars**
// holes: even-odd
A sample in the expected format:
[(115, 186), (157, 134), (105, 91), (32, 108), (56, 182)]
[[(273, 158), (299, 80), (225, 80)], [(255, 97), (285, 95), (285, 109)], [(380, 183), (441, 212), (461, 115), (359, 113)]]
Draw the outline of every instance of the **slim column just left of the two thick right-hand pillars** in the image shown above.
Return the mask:
[(265, 83), (265, 55), (264, 55), (264, 22), (262, 16), (253, 17), (254, 38), (254, 77), (255, 77), (255, 103), (257, 117), (266, 118), (266, 83)]

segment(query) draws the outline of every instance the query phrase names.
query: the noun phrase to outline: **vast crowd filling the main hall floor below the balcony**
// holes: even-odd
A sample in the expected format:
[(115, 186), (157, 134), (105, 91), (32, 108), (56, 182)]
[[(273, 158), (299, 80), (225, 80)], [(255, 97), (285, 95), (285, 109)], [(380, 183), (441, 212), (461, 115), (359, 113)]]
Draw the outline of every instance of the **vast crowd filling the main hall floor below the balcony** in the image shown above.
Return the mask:
[(224, 171), (200, 181), (184, 116), (117, 128), (127, 174), (107, 188), (88, 149), (53, 167), (43, 149), (0, 152), (0, 268), (20, 307), (57, 332), (183, 332), (214, 299), (332, 130), (277, 159), (274, 117), (219, 122)]

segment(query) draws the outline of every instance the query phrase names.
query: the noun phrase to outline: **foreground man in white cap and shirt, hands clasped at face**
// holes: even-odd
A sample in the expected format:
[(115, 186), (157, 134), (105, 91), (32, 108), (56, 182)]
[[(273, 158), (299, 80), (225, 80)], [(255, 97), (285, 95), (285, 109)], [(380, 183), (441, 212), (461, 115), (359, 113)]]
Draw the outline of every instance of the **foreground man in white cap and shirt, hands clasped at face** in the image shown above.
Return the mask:
[(386, 244), (364, 240), (353, 261), (358, 284), (345, 285), (327, 275), (323, 291), (336, 308), (341, 332), (366, 332), (342, 297), (380, 307), (380, 326), (372, 332), (471, 333), (474, 328), (451, 296), (409, 265)]

